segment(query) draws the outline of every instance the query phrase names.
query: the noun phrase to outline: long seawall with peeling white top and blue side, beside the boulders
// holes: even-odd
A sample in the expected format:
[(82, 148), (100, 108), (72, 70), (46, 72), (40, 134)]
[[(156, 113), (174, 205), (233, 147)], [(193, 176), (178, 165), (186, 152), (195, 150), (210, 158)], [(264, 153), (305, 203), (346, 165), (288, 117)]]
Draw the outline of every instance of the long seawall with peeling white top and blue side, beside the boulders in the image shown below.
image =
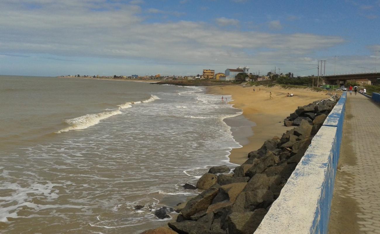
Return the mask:
[(327, 233), (346, 97), (344, 92), (255, 234)]

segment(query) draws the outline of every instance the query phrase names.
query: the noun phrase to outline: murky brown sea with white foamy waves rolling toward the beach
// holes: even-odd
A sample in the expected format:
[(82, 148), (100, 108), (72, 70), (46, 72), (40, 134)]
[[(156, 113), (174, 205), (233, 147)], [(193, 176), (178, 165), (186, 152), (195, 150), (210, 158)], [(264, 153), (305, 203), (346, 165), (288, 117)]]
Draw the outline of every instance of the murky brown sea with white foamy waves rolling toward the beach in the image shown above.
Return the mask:
[(204, 87), (0, 76), (0, 233), (165, 226), (170, 218), (154, 211), (198, 194), (182, 185), (211, 166), (236, 166), (228, 155), (252, 134), (221, 97)]

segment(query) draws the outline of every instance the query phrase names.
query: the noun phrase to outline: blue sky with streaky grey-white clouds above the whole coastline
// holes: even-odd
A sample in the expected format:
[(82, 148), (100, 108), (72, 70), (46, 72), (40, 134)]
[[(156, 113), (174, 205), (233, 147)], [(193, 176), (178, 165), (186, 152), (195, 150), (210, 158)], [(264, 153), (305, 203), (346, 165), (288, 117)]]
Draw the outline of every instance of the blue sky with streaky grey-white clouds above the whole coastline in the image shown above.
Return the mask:
[[(380, 0), (0, 0), (0, 75), (380, 71)], [(280, 70), (278, 70), (280, 68)]]

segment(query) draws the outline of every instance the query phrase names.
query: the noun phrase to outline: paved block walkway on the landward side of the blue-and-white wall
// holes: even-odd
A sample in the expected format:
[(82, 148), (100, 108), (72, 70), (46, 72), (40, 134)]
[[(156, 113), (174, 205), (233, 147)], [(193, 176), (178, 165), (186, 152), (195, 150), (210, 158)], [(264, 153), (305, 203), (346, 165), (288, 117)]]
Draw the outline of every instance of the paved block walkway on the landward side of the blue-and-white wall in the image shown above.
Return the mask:
[(380, 105), (347, 94), (329, 233), (380, 234)]

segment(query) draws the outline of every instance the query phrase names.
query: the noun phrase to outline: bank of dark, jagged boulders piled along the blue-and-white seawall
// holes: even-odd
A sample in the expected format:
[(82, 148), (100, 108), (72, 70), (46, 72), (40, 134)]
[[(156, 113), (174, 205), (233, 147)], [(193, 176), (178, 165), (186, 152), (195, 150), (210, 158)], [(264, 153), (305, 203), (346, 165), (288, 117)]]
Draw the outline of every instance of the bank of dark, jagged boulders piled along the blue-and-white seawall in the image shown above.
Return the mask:
[(180, 234), (252, 234), (335, 103), (323, 100), (298, 107), (284, 121), (296, 127), (250, 152), (233, 174), (223, 174), (230, 172), (226, 166), (211, 168), (197, 183), (205, 190), (178, 210), (169, 228)]

